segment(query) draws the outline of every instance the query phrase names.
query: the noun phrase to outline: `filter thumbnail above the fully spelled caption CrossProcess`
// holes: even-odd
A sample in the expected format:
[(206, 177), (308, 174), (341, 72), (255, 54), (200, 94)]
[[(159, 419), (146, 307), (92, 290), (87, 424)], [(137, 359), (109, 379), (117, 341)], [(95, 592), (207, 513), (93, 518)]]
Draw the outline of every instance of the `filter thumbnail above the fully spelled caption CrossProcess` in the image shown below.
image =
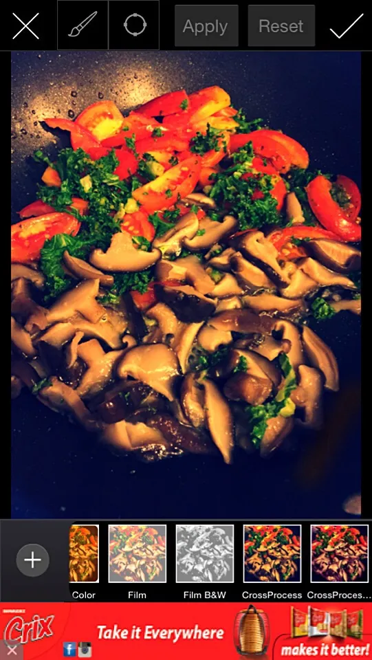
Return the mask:
[(300, 525), (244, 526), (244, 582), (300, 582), (300, 562)]

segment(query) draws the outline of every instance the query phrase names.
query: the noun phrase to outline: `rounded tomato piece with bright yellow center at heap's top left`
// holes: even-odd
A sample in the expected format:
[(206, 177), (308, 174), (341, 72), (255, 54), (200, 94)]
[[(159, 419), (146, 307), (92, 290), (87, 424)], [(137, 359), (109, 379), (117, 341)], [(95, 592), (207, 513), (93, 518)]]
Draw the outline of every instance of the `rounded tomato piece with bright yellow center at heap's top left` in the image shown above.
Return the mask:
[(124, 117), (113, 101), (97, 101), (89, 105), (76, 118), (76, 124), (83, 126), (100, 142), (118, 133)]

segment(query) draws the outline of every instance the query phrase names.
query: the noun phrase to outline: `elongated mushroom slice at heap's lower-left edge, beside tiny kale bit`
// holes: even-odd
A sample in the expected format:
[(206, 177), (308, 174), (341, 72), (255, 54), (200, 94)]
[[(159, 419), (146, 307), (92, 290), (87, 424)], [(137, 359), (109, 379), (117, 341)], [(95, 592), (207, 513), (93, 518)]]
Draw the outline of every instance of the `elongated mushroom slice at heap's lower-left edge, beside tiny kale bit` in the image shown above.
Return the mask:
[(95, 431), (99, 428), (98, 422), (92, 417), (76, 391), (55, 376), (52, 376), (39, 392), (39, 398), (52, 410), (67, 412), (75, 417), (87, 431)]

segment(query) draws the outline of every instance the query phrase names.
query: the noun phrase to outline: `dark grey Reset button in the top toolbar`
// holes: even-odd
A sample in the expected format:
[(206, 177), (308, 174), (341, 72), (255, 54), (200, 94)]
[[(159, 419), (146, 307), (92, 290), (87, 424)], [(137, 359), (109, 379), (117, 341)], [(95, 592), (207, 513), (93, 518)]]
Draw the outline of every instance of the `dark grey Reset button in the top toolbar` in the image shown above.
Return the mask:
[(248, 5), (248, 46), (315, 46), (315, 5)]

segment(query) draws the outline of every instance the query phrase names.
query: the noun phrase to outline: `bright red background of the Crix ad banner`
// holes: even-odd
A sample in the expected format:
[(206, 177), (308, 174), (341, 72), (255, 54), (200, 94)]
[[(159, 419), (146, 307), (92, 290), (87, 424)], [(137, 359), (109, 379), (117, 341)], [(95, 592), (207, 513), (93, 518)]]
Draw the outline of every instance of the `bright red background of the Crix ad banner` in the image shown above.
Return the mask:
[[(263, 610), (270, 622), (270, 646), (267, 656), (251, 656), (265, 660), (279, 660), (282, 657), (283, 646), (320, 646), (322, 643), (335, 644), (340, 647), (340, 655), (333, 657), (353, 656), (353, 652), (347, 652), (349, 645), (363, 646), (366, 648), (363, 654), (357, 653), (358, 657), (371, 657), (371, 615), (372, 604), (353, 603), (267, 603), (254, 602), (258, 609)], [(335, 637), (290, 637), (290, 610), (294, 605), (299, 610), (307, 611), (311, 606), (318, 607), (327, 612), (336, 612), (346, 609), (354, 612), (362, 609), (364, 613), (363, 637), (361, 640), (355, 638), (336, 639)], [(52, 637), (44, 637), (37, 641), (29, 641), (23, 645), (23, 658), (32, 660), (60, 660), (63, 658), (64, 641), (90, 641), (92, 645), (92, 658), (97, 660), (125, 659), (142, 660), (201, 660), (212, 658), (213, 660), (232, 660), (239, 658), (234, 648), (233, 628), (234, 619), (240, 610), (248, 608), (250, 602), (241, 603), (57, 603), (57, 604), (1, 604), (0, 614), (0, 639), (4, 637), (4, 630), (10, 619), (22, 617), (25, 623), (32, 621), (32, 617), (39, 616), (47, 618), (54, 615), (52, 621)], [(13, 611), (10, 611), (13, 610)], [(21, 611), (17, 611), (21, 610)], [(140, 626), (142, 632), (145, 626), (153, 628), (199, 628), (222, 629), (223, 639), (179, 639), (173, 643), (171, 639), (98, 639), (97, 626), (108, 626), (118, 624), (120, 629), (127, 628), (129, 635), (133, 626)], [(336, 648), (333, 647), (333, 648)], [(0, 658), (6, 658), (3, 643), (0, 647)], [(301, 655), (304, 656), (303, 653)], [(12, 656), (10, 656), (12, 657)], [(15, 657), (15, 656), (14, 656)], [(19, 653), (17, 654), (19, 657)], [(306, 655), (304, 656), (306, 657)], [(307, 654), (307, 657), (312, 655)], [(320, 654), (319, 656), (320, 657)], [(331, 658), (329, 651), (329, 658)]]

